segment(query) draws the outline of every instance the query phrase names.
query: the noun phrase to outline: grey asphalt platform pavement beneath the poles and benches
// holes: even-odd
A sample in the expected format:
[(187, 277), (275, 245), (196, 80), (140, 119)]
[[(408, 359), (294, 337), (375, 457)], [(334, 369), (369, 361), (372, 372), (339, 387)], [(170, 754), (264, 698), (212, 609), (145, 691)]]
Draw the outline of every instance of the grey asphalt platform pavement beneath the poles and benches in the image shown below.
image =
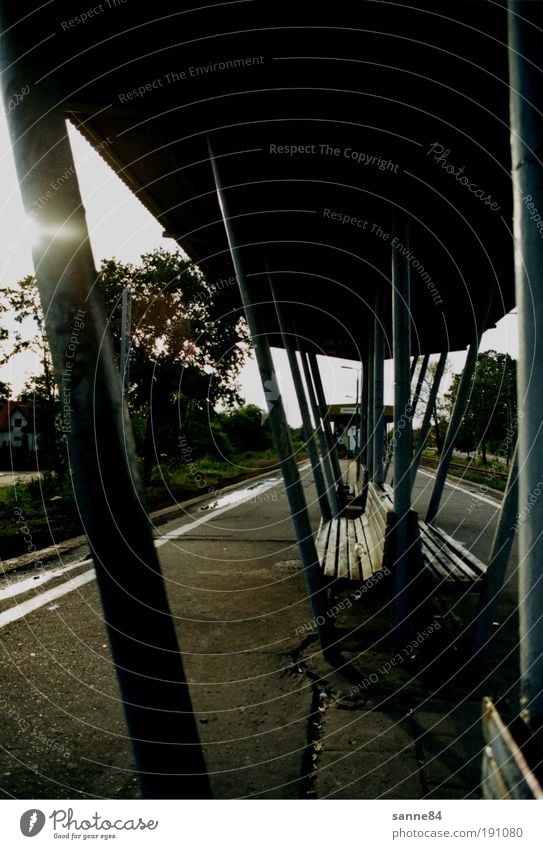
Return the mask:
[[(414, 494), (421, 518), (432, 472)], [(307, 467), (314, 526), (318, 505)], [(451, 479), (438, 524), (485, 558), (499, 496)], [(181, 515), (179, 515), (181, 513)], [(392, 666), (384, 584), (331, 587), (344, 662), (323, 659), (278, 473), (193, 501), (155, 535), (216, 798), (478, 797), (482, 695), (515, 692), (515, 570), (493, 657), (452, 674), (473, 594), (428, 608)], [(133, 798), (129, 739), (92, 564), (81, 547), (0, 585), (0, 791)], [(341, 605), (341, 606), (340, 606)], [(423, 623), (424, 624), (424, 623)]]

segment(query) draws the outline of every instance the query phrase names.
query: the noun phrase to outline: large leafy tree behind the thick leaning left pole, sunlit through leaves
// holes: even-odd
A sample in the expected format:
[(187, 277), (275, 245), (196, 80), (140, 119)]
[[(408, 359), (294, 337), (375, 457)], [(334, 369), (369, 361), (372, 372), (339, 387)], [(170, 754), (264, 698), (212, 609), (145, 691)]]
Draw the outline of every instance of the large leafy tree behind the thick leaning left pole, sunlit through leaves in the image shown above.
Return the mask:
[[(142, 256), (140, 265), (103, 261), (98, 285), (116, 352), (123, 291), (132, 296), (128, 405), (149, 482), (161, 455), (182, 456), (181, 440), (190, 444), (193, 456), (213, 449), (215, 405), (220, 401), (229, 408), (240, 401), (235, 378), (248, 349), (246, 325), (240, 309), (229, 303), (228, 290), (209, 284), (179, 252), (156, 250)], [(7, 350), (4, 345), (0, 362), (22, 350), (38, 353), (41, 374), (26, 394), (33, 389), (39, 398), (40, 431), (46, 431), (42, 447), (56, 444), (47, 434), (51, 428), (55, 433), (58, 395), (35, 278), (4, 289), (0, 306), (21, 328), (12, 334)], [(29, 322), (35, 327), (33, 336), (28, 335)], [(5, 337), (0, 329), (0, 340)], [(40, 455), (43, 466), (41, 448)], [(53, 467), (60, 468), (58, 457)]]

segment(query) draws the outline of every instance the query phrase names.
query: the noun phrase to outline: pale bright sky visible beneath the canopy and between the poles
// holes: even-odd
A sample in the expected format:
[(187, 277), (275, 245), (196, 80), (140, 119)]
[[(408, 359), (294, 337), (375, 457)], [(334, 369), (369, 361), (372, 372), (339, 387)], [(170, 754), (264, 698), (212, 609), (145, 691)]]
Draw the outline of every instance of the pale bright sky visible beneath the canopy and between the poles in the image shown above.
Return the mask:
[[(87, 213), (90, 240), (96, 265), (102, 259), (116, 257), (137, 263), (142, 253), (155, 248), (174, 250), (171, 239), (162, 238), (160, 224), (140, 201), (125, 187), (116, 174), (96, 154), (71, 125), (69, 134), (77, 175)], [(33, 273), (31, 231), (25, 223), (7, 125), (0, 108), (0, 286), (13, 286)], [(481, 350), (494, 348), (518, 356), (516, 316), (506, 316), (495, 330), (485, 333)], [(278, 382), (290, 424), (300, 424), (289, 369), (283, 351), (274, 350)], [(460, 371), (465, 355), (450, 356), (452, 371)], [(22, 354), (0, 368), (0, 380), (9, 383), (16, 396), (26, 377), (35, 371), (35, 355)], [(319, 358), (326, 398), (330, 404), (353, 403), (356, 393), (357, 363), (348, 360)], [(247, 403), (265, 407), (256, 363), (251, 358), (240, 373), (241, 395)], [(392, 366), (385, 365), (385, 403), (392, 401)]]

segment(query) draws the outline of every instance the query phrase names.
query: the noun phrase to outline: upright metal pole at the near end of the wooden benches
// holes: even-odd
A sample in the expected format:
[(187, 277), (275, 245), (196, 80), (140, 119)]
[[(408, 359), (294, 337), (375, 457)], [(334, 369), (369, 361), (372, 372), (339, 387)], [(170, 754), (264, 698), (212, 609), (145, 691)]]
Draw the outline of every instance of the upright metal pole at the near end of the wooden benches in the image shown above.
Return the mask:
[[(407, 222), (399, 223), (398, 236), (409, 243)], [(394, 579), (397, 639), (408, 630), (409, 511), (411, 508), (411, 314), (409, 262), (392, 250), (392, 327), (394, 346)]]

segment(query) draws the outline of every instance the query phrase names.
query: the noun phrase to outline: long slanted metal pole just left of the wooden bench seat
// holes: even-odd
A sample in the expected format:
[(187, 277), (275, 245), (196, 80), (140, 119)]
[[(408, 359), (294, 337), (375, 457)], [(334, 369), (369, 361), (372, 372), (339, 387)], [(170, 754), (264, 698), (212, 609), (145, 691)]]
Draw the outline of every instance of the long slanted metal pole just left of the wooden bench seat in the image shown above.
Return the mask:
[[(277, 380), (268, 335), (266, 328), (262, 326), (260, 315), (258, 310), (255, 309), (255, 304), (251, 296), (245, 275), (241, 251), (235, 240), (232, 221), (228, 214), (228, 206), (221, 184), (219, 166), (214, 157), (209, 140), (208, 149), (213, 169), (213, 178), (215, 180), (215, 187), (217, 190), (217, 198), (226, 230), (234, 271), (238, 281), (247, 324), (249, 325), (249, 330), (255, 346), (255, 355), (258, 370), (260, 372), (260, 379), (263, 386), (276, 385)], [(268, 383), (268, 381), (271, 381), (271, 383)], [(311, 523), (309, 521), (305, 493), (300, 480), (298, 465), (294, 458), (290, 431), (280, 392), (277, 392), (277, 396), (278, 397), (274, 399), (273, 402), (268, 402), (270, 427), (275, 447), (279, 455), (279, 464), (283, 473), (292, 523), (294, 525), (296, 539), (298, 541), (307, 591), (313, 608), (321, 646), (326, 657), (330, 660), (336, 660), (337, 650), (333, 646), (335, 630), (330, 624), (330, 619), (326, 616), (326, 587), (319, 565), (317, 550), (315, 548), (315, 540), (313, 538), (313, 529), (311, 528)]]

